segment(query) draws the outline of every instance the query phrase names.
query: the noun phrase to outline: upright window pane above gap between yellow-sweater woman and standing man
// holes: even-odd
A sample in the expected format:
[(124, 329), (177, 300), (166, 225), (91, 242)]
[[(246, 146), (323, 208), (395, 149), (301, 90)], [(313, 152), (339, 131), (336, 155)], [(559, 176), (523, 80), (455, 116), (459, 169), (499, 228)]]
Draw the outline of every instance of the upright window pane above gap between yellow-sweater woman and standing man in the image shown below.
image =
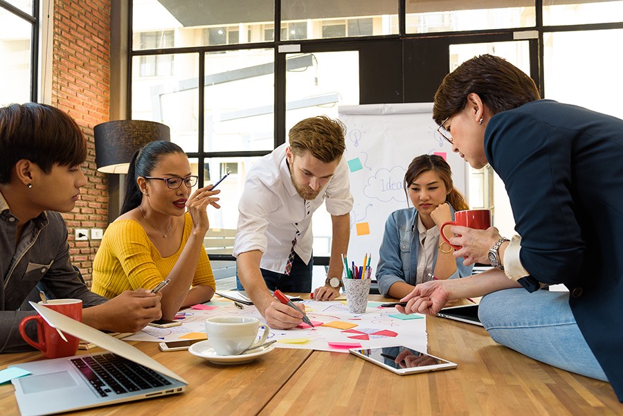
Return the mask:
[(206, 54), (204, 151), (272, 150), (274, 51)]

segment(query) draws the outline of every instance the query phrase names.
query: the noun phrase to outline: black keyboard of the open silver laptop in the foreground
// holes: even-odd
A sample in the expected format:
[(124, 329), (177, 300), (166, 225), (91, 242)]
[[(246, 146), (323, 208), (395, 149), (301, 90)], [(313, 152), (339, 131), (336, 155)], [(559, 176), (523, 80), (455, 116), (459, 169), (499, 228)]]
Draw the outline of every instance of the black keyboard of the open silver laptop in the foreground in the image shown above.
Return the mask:
[(144, 365), (106, 353), (71, 359), (101, 397), (170, 385), (171, 382)]

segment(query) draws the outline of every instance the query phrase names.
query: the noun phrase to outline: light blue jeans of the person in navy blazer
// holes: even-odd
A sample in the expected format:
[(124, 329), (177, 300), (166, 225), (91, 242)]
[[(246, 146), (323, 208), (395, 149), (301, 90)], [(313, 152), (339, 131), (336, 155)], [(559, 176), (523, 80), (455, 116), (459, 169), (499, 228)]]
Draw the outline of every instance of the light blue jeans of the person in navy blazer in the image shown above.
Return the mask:
[(532, 359), (608, 381), (569, 307), (569, 293), (506, 289), (480, 301), (478, 317), (496, 343)]

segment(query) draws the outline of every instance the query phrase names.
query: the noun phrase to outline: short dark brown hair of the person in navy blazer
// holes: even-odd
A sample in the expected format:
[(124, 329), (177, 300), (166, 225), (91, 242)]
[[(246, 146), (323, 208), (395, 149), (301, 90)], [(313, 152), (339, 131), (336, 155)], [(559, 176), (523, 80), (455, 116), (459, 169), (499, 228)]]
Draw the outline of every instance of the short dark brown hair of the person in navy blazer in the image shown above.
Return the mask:
[(477, 93), (493, 114), (541, 99), (534, 80), (521, 69), (501, 57), (480, 55), (444, 77), (433, 100), (435, 123), (441, 125), (461, 111), (471, 93)]

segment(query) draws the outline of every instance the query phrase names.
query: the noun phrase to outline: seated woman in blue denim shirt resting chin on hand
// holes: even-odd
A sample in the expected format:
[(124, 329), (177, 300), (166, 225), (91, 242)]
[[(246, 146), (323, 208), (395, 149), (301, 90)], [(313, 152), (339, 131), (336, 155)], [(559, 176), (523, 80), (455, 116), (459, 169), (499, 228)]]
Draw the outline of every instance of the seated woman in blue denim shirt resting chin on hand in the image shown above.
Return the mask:
[(453, 220), (455, 209), (469, 209), (453, 186), (450, 165), (441, 156), (417, 156), (404, 175), (404, 188), (413, 208), (391, 213), (379, 249), (379, 291), (392, 298), (431, 280), (429, 273), (439, 279), (462, 278), (473, 268), (455, 259), (451, 246), (440, 244), (439, 226)]

